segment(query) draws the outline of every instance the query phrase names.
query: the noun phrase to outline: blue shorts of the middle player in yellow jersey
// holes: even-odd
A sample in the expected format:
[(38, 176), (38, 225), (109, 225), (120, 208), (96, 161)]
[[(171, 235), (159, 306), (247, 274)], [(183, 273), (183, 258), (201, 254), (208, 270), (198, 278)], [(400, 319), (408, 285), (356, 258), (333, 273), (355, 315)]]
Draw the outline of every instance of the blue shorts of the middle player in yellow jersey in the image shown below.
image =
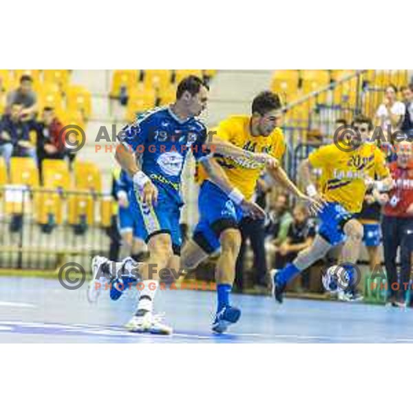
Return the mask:
[(193, 231), (193, 241), (207, 254), (220, 248), (220, 235), (229, 228), (238, 228), (243, 212), (219, 187), (204, 181), (198, 195), (200, 220)]

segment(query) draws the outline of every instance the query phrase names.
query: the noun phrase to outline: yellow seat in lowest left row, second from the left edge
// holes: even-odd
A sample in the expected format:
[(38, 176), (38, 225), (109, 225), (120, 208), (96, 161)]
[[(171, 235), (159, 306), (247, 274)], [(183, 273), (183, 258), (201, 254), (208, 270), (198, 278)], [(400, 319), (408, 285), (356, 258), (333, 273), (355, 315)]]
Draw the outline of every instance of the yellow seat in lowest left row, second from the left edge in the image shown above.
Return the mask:
[(50, 223), (50, 215), (56, 224), (63, 224), (63, 202), (59, 193), (36, 191), (33, 200), (34, 219), (37, 224)]

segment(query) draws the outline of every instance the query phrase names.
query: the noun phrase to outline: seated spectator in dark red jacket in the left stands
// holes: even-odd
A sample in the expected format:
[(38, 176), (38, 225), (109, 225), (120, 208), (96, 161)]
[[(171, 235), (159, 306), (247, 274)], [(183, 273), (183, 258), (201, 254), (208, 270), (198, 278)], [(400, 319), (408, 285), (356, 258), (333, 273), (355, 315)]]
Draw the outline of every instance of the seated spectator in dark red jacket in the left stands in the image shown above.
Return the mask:
[(36, 124), (37, 156), (39, 167), (43, 159), (63, 159), (66, 149), (61, 136), (63, 124), (52, 107), (43, 109), (42, 120)]

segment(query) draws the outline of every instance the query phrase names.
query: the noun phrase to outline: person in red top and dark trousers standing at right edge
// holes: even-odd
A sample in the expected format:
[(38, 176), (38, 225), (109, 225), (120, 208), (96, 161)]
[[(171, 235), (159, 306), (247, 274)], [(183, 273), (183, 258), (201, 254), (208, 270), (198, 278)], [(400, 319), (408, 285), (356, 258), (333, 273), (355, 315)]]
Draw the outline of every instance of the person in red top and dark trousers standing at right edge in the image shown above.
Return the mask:
[[(413, 148), (411, 142), (397, 145), (397, 160), (390, 164), (395, 187), (381, 195), (383, 211), (383, 246), (385, 271), (388, 277), (388, 300), (392, 306), (405, 306), (413, 266)], [(396, 256), (400, 247), (400, 277)], [(394, 286), (394, 288), (392, 288)]]

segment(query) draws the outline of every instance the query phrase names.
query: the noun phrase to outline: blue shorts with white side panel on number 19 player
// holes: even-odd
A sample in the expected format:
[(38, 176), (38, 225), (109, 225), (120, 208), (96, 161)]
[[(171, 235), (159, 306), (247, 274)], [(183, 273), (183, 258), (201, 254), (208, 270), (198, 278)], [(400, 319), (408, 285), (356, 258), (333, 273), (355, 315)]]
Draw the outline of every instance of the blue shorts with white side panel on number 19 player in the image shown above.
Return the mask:
[(136, 233), (146, 243), (154, 235), (167, 233), (171, 235), (173, 253), (180, 255), (182, 244), (180, 209), (182, 205), (177, 204), (159, 187), (158, 191), (158, 202), (155, 206), (138, 202), (134, 191), (129, 192)]

